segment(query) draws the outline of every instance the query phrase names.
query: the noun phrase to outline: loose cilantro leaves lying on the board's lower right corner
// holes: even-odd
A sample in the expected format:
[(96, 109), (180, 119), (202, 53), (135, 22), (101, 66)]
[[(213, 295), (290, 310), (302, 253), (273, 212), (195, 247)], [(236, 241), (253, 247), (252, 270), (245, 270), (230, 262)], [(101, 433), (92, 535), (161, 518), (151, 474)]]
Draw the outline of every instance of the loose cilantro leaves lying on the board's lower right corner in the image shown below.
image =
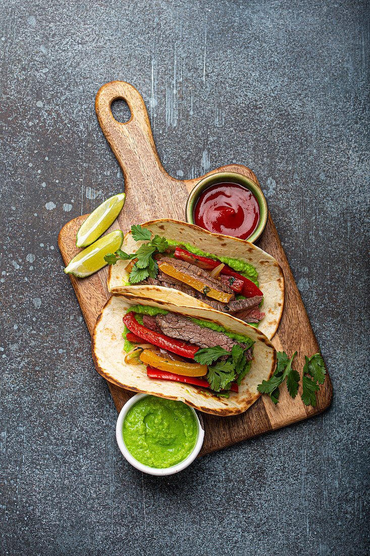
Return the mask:
[[(285, 351), (278, 351), (277, 364), (274, 374), (269, 380), (263, 380), (262, 384), (258, 384), (257, 390), (262, 394), (268, 394), (276, 405), (279, 401), (279, 386), (287, 381), (288, 393), (295, 398), (298, 393), (299, 376), (298, 371), (292, 369), (293, 359), (297, 351), (289, 359)], [(319, 384), (323, 384), (326, 375), (326, 369), (323, 358), (320, 353), (312, 355), (308, 358), (304, 356), (303, 375), (302, 375), (302, 396), (301, 399), (305, 405), (316, 406), (316, 392), (319, 391)]]

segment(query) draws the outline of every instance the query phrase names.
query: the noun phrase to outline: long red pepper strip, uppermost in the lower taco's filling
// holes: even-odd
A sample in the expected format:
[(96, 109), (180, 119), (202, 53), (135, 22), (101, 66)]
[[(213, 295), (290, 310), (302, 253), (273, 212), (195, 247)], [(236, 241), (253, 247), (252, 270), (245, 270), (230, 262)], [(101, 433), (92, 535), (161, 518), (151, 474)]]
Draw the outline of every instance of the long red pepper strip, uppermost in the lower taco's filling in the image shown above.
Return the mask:
[(148, 344), (163, 347), (163, 349), (172, 351), (172, 353), (176, 355), (194, 359), (194, 355), (199, 349), (198, 346), (175, 340), (174, 338), (161, 334), (160, 332), (155, 332), (154, 330), (149, 330), (142, 324), (139, 324), (132, 311), (124, 315), (122, 320), (123, 323), (126, 324), (128, 330), (133, 332), (136, 336), (141, 337), (143, 340), (146, 340)]

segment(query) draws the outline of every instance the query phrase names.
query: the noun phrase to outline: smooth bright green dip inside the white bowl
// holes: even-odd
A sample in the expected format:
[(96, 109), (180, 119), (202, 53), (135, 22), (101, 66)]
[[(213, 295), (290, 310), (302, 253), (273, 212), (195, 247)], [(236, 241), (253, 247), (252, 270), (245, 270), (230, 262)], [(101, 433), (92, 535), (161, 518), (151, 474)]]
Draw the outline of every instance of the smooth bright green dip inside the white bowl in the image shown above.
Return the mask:
[(140, 463), (163, 469), (180, 463), (196, 444), (198, 426), (182, 401), (145, 396), (128, 411), (123, 439)]

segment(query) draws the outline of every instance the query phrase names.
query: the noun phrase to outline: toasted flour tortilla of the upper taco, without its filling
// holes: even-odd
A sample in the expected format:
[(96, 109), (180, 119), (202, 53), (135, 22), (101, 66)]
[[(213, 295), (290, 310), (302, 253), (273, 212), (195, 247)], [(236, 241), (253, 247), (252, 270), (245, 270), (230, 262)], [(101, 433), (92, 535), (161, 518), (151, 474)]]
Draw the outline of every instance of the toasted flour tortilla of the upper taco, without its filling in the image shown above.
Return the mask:
[[(203, 228), (179, 222), (177, 220), (163, 219), (144, 222), (143, 227), (151, 230), (152, 234), (164, 236), (179, 244), (191, 244), (194, 247), (216, 255), (216, 257), (231, 257), (241, 259), (253, 265), (258, 272), (259, 288), (263, 292), (264, 302), (261, 311), (265, 316), (259, 322), (258, 329), (262, 330), (271, 339), (277, 331), (284, 306), (284, 276), (278, 262), (268, 253), (236, 237), (211, 234)], [(134, 253), (143, 241), (135, 241), (131, 232), (124, 236), (121, 249), (127, 253)], [(125, 285), (128, 282), (126, 266), (129, 261), (118, 261), (109, 267), (108, 290), (115, 295), (133, 294), (139, 297), (153, 297), (156, 300), (168, 300), (177, 305), (188, 307), (206, 308), (208, 305), (181, 291), (162, 286)], [(235, 318), (235, 317), (234, 317)]]

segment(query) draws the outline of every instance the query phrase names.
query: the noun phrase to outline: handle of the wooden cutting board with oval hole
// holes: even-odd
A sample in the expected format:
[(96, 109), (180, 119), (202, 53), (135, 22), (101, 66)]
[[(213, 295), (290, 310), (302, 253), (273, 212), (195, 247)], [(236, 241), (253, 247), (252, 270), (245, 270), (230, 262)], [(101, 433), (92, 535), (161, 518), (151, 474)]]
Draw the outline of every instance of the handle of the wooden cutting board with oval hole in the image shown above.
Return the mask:
[[(123, 99), (131, 111), (126, 123), (114, 119), (112, 102)], [(124, 81), (103, 85), (96, 96), (95, 110), (99, 124), (121, 166), (125, 181), (152, 182), (156, 176), (168, 176), (154, 145), (153, 133), (143, 97)], [(173, 179), (173, 178), (171, 178)]]

